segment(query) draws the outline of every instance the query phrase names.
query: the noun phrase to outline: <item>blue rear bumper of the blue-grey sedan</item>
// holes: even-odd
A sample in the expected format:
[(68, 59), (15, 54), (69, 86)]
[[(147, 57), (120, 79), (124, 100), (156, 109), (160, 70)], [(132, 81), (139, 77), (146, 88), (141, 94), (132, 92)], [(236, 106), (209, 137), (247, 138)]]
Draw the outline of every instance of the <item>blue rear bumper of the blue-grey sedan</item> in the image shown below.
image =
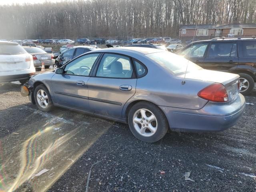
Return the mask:
[[(208, 105), (208, 106), (207, 106)], [(245, 99), (239, 94), (232, 104), (206, 104), (200, 110), (184, 110), (159, 106), (165, 113), (171, 130), (189, 132), (223, 131), (236, 124), (245, 109)]]

